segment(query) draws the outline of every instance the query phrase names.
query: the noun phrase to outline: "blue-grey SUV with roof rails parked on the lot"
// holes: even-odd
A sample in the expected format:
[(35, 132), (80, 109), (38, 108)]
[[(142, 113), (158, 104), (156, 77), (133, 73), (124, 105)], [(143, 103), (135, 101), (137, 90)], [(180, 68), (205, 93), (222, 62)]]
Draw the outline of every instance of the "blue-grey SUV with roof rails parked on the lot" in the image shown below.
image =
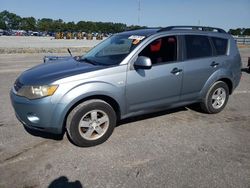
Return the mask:
[(115, 34), (82, 57), (45, 57), (10, 96), (29, 129), (78, 146), (106, 141), (120, 119), (199, 103), (218, 113), (241, 78), (236, 43), (224, 30), (171, 26)]

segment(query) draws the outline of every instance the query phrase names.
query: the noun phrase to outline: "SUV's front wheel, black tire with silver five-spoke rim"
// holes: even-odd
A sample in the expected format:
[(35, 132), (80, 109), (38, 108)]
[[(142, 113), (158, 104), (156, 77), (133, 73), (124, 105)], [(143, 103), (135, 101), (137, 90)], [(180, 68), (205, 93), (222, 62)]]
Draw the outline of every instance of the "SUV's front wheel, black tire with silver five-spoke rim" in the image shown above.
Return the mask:
[[(103, 131), (102, 133), (103, 135), (99, 135), (99, 133), (96, 131), (96, 127), (93, 128), (92, 126), (90, 126), (88, 128), (85, 128), (80, 126), (80, 122), (84, 122), (87, 124), (91, 122), (89, 125), (95, 124), (95, 126), (98, 126), (97, 124), (100, 123), (98, 122), (98, 120), (100, 120), (101, 118), (98, 119), (97, 117), (96, 121), (93, 121), (92, 112), (96, 112), (96, 117), (99, 115), (103, 115), (103, 117), (105, 116), (105, 118), (107, 117), (107, 122), (105, 122), (105, 124), (101, 124), (105, 126), (105, 128), (101, 129), (105, 129), (105, 131)], [(90, 147), (101, 144), (111, 136), (116, 126), (116, 119), (117, 117), (114, 109), (105, 101), (99, 99), (85, 101), (76, 106), (67, 117), (66, 129), (68, 138), (73, 144), (80, 147)], [(101, 125), (99, 127), (101, 127)], [(90, 137), (86, 136), (87, 131), (93, 131)], [(94, 138), (97, 138), (92, 138), (93, 135)]]

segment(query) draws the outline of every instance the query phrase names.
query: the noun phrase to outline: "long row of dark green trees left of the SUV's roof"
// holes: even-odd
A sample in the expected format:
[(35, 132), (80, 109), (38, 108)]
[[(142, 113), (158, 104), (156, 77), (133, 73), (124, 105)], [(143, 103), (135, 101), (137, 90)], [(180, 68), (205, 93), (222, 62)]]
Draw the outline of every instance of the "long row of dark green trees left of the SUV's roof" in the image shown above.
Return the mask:
[(51, 18), (35, 19), (34, 17), (21, 17), (4, 10), (0, 12), (0, 29), (25, 30), (43, 32), (102, 32), (117, 33), (125, 30), (145, 28), (142, 26), (127, 26), (123, 23), (79, 21), (64, 22), (62, 19)]

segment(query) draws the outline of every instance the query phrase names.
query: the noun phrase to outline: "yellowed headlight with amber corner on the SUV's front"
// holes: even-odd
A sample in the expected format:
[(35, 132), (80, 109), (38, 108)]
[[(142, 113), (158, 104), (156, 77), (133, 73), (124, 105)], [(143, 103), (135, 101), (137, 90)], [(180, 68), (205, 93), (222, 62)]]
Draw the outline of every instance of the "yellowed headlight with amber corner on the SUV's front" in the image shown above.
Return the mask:
[(28, 99), (39, 99), (53, 95), (57, 88), (58, 85), (23, 86), (16, 92), (16, 94)]

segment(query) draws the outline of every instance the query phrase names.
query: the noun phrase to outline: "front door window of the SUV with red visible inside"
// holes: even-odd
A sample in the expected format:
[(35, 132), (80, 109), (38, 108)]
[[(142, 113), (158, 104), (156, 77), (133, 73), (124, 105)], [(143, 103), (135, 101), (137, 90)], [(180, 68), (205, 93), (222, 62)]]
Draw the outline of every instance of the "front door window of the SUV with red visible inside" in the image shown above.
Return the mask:
[(177, 60), (177, 38), (168, 36), (154, 40), (147, 45), (139, 56), (149, 57), (152, 64)]

